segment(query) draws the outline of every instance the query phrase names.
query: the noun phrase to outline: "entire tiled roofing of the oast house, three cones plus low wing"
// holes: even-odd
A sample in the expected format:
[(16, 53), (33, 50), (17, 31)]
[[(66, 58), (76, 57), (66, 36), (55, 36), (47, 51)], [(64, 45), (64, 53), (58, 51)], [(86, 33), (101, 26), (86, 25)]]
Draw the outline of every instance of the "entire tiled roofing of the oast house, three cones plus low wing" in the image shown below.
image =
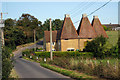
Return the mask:
[[(58, 39), (88, 39), (99, 35), (108, 37), (98, 18), (94, 18), (91, 25), (87, 16), (83, 15), (76, 31), (69, 15), (67, 15), (61, 30), (52, 31), (52, 41), (55, 42)], [(50, 31), (44, 31), (44, 37), (46, 42), (50, 42)]]

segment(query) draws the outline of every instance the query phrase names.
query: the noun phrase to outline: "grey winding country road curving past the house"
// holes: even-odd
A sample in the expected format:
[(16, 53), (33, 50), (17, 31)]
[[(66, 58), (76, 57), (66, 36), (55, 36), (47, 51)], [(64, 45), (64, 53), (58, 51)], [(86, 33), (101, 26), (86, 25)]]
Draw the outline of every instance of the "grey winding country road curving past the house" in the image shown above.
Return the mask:
[[(36, 46), (42, 47), (42, 42), (37, 43)], [(56, 73), (54, 71), (51, 71), (49, 69), (41, 67), (39, 63), (27, 61), (25, 59), (20, 58), (23, 50), (25, 50), (27, 48), (30, 49), (33, 47), (34, 47), (34, 45), (29, 46), (29, 47), (24, 47), (24, 48), (21, 48), (15, 52), (13, 52), (15, 54), (14, 69), (16, 70), (19, 78), (22, 78), (22, 79), (29, 78), (30, 80), (32, 80), (33, 78), (34, 78), (34, 80), (35, 79), (38, 79), (38, 80), (42, 80), (42, 79), (71, 80), (67, 76), (63, 76), (59, 73)]]

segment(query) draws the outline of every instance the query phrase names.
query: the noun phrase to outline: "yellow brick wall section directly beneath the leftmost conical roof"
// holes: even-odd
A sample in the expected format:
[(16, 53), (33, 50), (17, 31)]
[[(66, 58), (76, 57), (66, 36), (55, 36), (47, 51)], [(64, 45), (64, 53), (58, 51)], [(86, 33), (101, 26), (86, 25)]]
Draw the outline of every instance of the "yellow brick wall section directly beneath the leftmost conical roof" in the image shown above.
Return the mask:
[(68, 48), (74, 48), (74, 50), (79, 49), (78, 39), (61, 40), (61, 51), (67, 51)]

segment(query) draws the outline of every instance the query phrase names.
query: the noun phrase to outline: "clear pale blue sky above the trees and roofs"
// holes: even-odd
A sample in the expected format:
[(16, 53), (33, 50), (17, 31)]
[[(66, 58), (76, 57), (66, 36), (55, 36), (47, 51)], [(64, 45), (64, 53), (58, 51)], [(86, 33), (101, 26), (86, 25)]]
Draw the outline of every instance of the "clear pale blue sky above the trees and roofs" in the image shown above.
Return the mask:
[[(28, 13), (38, 20), (44, 21), (46, 19), (61, 19), (64, 20), (64, 15), (69, 14), (72, 22), (77, 29), (82, 14), (87, 15), (106, 3), (86, 0), (86, 2), (1, 2), (0, 12), (8, 13), (4, 14), (3, 18), (19, 19), (23, 13)], [(109, 1), (109, 0), (107, 0)], [(117, 24), (118, 23), (118, 2), (110, 2), (94, 14), (88, 16), (90, 22), (92, 22), (93, 16), (97, 15), (102, 24)], [(77, 21), (77, 22), (76, 22)]]

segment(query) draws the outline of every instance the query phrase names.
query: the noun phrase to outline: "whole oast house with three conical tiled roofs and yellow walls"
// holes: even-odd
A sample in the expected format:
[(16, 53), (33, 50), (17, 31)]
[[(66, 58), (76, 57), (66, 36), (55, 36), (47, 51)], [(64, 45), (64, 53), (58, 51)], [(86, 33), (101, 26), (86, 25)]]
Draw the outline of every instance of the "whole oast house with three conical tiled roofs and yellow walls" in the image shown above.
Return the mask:
[[(101, 35), (108, 38), (98, 16), (94, 16), (92, 23), (90, 23), (87, 15), (83, 14), (76, 30), (70, 16), (66, 14), (61, 30), (52, 31), (52, 50), (83, 50), (87, 41)], [(44, 31), (44, 49), (50, 51), (50, 31)]]

